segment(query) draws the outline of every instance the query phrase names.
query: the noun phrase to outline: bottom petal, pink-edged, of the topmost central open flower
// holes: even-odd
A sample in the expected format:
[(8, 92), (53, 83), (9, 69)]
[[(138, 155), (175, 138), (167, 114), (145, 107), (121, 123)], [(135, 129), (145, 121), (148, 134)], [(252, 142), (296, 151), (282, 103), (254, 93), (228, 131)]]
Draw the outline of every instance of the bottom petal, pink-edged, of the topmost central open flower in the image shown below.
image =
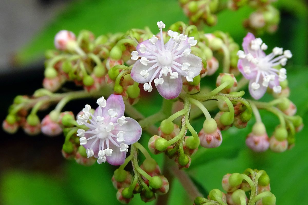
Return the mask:
[(156, 86), (158, 93), (167, 100), (178, 97), (182, 90), (181, 77), (179, 76), (176, 79), (170, 79), (169, 77), (169, 75), (162, 76), (164, 83)]

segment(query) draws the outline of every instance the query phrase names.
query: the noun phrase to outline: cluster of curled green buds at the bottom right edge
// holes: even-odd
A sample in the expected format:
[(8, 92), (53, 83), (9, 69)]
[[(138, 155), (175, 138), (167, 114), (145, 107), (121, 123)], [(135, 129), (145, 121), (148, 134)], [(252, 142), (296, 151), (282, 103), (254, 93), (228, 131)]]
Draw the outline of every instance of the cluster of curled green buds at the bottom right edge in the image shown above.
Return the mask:
[(207, 198), (197, 197), (195, 205), (275, 205), (270, 192), (270, 177), (264, 170), (246, 169), (243, 174), (226, 174), (221, 182), (226, 193), (219, 189), (209, 192)]

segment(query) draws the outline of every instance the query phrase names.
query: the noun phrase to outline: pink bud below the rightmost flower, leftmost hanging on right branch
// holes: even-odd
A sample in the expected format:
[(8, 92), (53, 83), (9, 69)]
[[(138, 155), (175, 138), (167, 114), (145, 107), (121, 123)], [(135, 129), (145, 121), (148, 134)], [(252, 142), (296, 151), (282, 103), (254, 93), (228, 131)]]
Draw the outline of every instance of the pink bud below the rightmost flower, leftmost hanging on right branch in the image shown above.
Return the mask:
[(264, 152), (270, 146), (269, 137), (266, 133), (261, 136), (249, 133), (246, 138), (246, 145), (255, 152)]

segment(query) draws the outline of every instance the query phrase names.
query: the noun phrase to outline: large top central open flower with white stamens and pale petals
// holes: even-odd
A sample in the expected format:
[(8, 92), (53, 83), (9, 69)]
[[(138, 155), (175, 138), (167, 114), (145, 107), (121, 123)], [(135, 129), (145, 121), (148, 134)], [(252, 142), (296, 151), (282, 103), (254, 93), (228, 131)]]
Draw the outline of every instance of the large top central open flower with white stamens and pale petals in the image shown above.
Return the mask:
[(153, 35), (150, 39), (137, 45), (132, 52), (132, 59), (138, 60), (132, 67), (132, 79), (144, 83), (145, 91), (151, 92), (154, 85), (160, 95), (166, 99), (179, 96), (182, 90), (182, 78), (192, 82), (203, 68), (202, 60), (191, 54), (191, 46), (197, 44), (194, 37), (168, 30), (169, 41), (164, 44), (163, 28), (165, 24), (157, 22), (160, 40)]

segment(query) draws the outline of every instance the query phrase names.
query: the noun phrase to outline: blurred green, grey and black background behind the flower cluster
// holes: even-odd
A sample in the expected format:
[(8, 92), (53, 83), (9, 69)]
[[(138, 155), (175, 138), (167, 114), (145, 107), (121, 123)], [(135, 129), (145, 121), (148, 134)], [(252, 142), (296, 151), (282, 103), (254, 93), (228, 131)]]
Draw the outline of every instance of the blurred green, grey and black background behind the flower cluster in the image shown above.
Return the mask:
[[(308, 124), (308, 19), (307, 2), (304, 0), (279, 0), (275, 6), (281, 11), (281, 22), (274, 34), (260, 36), (273, 48), (290, 49), (292, 59), (286, 66), (290, 100), (298, 107), (298, 114)], [(218, 14), (218, 23), (205, 27), (205, 32), (228, 32), (241, 44), (247, 31), (241, 26), (252, 9), (225, 10)], [(0, 6), (0, 88), (2, 91), (1, 116), (14, 97), (31, 95), (42, 86), (44, 51), (53, 48), (54, 35), (62, 29), (78, 34), (80, 30), (92, 31), (96, 36), (108, 32), (125, 32), (130, 28), (149, 26), (155, 32), (156, 22), (170, 26), (177, 21), (188, 23), (176, 0), (132, 1), (63, 1), (63, 0), (2, 0)], [(204, 78), (205, 80), (206, 78)], [(213, 82), (211, 82), (213, 81)], [(209, 78), (214, 85), (215, 79)], [(246, 97), (249, 97), (247, 95)], [(265, 96), (262, 100), (269, 100)], [(65, 110), (77, 113), (87, 101), (68, 104)], [(158, 102), (158, 103), (157, 103)], [(152, 109), (142, 103), (136, 106), (148, 116), (159, 109), (157, 98)], [(48, 111), (42, 112), (41, 117)], [(261, 112), (269, 135), (278, 119)], [(200, 130), (204, 119), (193, 121)], [(271, 179), (271, 191), (277, 204), (306, 204), (308, 195), (307, 127), (296, 135), (295, 147), (284, 153), (254, 153), (245, 146), (245, 136), (250, 132), (252, 119), (245, 129), (231, 128), (223, 131), (224, 142), (214, 150), (200, 149), (187, 170), (203, 194), (213, 188), (221, 188), (226, 173), (243, 172), (246, 168), (264, 169)], [(61, 148), (63, 136), (50, 138), (39, 135), (26, 136), (22, 130), (8, 135), (2, 130), (0, 145), (0, 204), (119, 204), (116, 190), (111, 184), (114, 167), (94, 164), (83, 167), (75, 161), (64, 160)], [(142, 143), (147, 144), (147, 135)], [(156, 156), (162, 164), (162, 156)], [(174, 180), (169, 204), (192, 204), (184, 188)], [(130, 204), (143, 204), (135, 196)], [(151, 202), (149, 204), (154, 204)]]

